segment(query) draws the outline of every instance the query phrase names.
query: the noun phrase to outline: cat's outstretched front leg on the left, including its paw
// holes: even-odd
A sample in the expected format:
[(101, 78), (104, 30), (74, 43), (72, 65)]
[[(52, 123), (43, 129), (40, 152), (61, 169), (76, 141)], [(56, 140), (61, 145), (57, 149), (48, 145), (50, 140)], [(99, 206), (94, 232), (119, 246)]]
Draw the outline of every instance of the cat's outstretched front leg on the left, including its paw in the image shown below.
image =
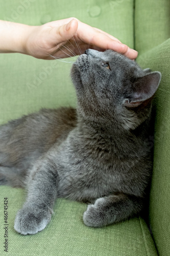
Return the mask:
[(51, 220), (57, 196), (58, 175), (55, 164), (36, 164), (28, 181), (28, 197), (16, 215), (14, 229), (21, 234), (35, 234)]

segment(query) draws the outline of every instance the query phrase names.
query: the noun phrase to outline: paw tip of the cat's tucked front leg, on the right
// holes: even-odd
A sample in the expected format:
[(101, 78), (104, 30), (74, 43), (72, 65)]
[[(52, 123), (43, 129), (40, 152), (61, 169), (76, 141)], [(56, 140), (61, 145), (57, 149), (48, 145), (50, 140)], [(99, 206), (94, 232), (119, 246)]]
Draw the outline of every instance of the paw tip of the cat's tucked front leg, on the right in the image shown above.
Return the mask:
[(90, 204), (87, 210), (83, 214), (84, 224), (89, 227), (102, 227), (105, 226), (105, 212), (103, 211), (102, 205), (104, 198), (99, 198), (94, 204)]

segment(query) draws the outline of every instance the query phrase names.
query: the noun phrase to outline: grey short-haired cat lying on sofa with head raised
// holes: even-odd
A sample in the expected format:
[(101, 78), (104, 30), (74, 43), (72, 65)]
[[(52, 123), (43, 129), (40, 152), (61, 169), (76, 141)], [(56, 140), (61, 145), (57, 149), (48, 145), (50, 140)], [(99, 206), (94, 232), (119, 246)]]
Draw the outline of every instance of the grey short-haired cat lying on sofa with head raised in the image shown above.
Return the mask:
[(71, 67), (77, 109), (41, 109), (0, 126), (0, 184), (28, 196), (14, 228), (35, 234), (56, 198), (88, 201), (85, 225), (138, 214), (152, 174), (152, 99), (161, 73), (112, 50), (88, 49)]

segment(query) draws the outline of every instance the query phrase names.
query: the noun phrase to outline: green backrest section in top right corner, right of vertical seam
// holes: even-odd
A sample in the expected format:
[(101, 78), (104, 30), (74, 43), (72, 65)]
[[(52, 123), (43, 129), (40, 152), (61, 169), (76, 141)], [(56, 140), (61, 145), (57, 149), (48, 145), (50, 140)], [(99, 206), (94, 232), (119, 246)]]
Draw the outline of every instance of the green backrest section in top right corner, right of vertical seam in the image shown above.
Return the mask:
[(142, 54), (168, 39), (169, 24), (169, 0), (135, 0), (135, 50)]

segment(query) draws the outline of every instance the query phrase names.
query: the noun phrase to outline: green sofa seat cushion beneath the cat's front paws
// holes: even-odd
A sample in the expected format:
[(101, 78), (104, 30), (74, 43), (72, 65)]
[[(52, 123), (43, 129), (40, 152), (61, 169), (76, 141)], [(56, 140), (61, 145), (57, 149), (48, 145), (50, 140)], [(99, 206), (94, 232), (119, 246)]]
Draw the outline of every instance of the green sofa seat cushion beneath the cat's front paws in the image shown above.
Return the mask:
[[(54, 215), (46, 228), (33, 236), (22, 236), (13, 228), (17, 210), (25, 199), (19, 188), (1, 187), (0, 218), (4, 222), (4, 198), (8, 197), (8, 255), (51, 256), (153, 256), (157, 255), (147, 225), (135, 218), (104, 228), (90, 228), (83, 223), (87, 205), (65, 199), (57, 200)], [(4, 229), (0, 229), (0, 254), (3, 251)]]

